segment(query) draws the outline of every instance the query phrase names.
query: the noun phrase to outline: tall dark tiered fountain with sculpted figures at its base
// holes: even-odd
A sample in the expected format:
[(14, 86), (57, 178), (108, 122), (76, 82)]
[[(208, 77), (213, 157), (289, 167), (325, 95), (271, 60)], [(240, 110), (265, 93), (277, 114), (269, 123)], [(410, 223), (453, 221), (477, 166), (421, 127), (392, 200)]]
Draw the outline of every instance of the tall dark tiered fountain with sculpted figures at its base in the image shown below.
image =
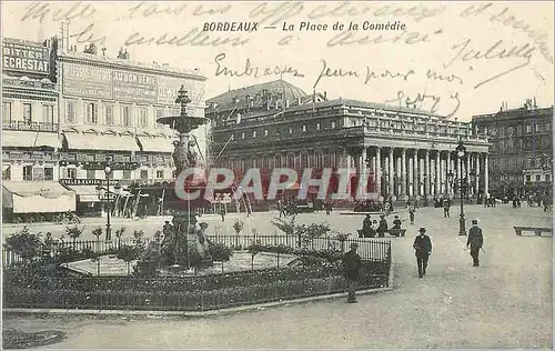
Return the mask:
[[(175, 163), (175, 178), (185, 169), (198, 167), (196, 162), (196, 143), (191, 139), (191, 131), (206, 123), (208, 119), (203, 117), (189, 116), (186, 106), (191, 102), (185, 89), (181, 86), (178, 91), (175, 103), (181, 106), (180, 116), (162, 117), (157, 121), (162, 124), (168, 124), (170, 128), (179, 132), (179, 140), (173, 141), (173, 162)], [(204, 189), (202, 181), (185, 181), (185, 190), (194, 191), (194, 189)], [(162, 261), (173, 263), (173, 268), (188, 269), (191, 267), (191, 261), (200, 259), (210, 260), (208, 257), (206, 242), (198, 243), (204, 237), (203, 229), (196, 224), (195, 208), (198, 203), (185, 200), (175, 200), (172, 202), (172, 223), (167, 222), (164, 225), (164, 240), (162, 241)]]

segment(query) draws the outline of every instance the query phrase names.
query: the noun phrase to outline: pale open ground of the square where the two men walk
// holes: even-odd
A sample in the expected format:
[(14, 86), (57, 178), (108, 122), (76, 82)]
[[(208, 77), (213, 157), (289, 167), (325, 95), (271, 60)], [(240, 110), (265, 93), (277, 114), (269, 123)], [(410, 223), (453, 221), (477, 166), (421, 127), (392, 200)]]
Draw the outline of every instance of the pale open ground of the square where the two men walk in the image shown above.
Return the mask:
[[(421, 209), (407, 237), (393, 242), (390, 292), (206, 318), (8, 317), (4, 328), (62, 330), (47, 348), (546, 348), (552, 349), (552, 238), (516, 237), (512, 225), (552, 227), (552, 214), (508, 205), (465, 207), (478, 217), (485, 253), (472, 267), (457, 209)], [(262, 215), (255, 214), (261, 219)], [(402, 213), (400, 217), (404, 217)], [(352, 231), (361, 218), (306, 214)], [(301, 219), (300, 219), (301, 220)], [(268, 217), (262, 222), (268, 222)], [(426, 227), (434, 250), (417, 278), (412, 241)]]

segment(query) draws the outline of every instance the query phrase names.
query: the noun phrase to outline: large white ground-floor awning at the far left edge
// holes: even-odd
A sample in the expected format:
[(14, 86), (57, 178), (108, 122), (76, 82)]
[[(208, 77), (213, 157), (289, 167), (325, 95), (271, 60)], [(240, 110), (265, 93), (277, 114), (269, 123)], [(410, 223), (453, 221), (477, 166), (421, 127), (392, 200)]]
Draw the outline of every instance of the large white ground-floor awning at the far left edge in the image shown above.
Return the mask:
[(13, 213), (75, 210), (75, 193), (54, 181), (3, 181), (2, 207)]

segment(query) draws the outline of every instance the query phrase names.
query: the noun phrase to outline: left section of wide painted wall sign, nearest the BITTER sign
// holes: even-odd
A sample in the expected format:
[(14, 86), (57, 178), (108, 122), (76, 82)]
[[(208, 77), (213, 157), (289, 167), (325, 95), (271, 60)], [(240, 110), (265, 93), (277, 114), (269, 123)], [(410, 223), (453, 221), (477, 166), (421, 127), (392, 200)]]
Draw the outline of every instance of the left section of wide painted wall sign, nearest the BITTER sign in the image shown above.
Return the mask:
[(84, 64), (63, 63), (63, 93), (112, 99), (112, 71)]

